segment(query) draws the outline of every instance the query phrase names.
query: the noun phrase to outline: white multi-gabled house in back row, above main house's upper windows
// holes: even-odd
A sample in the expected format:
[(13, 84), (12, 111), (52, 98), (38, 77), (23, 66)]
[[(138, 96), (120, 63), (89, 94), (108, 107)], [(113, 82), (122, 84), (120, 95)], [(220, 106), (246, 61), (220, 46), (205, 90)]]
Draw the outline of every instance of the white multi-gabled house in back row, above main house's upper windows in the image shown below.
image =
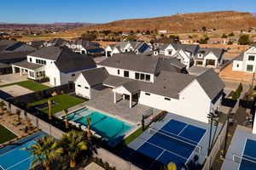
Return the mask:
[(108, 45), (105, 48), (106, 57), (113, 54), (121, 54), (134, 52), (135, 54), (143, 54), (151, 51), (151, 48), (145, 42), (119, 42), (117, 44)]

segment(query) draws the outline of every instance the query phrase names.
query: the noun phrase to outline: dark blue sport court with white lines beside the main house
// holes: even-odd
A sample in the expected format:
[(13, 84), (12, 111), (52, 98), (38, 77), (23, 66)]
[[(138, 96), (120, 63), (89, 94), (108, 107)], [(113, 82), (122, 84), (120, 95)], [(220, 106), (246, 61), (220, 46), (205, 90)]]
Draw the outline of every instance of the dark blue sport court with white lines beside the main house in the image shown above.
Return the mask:
[(200, 142), (206, 129), (172, 119), (160, 129), (149, 128), (144, 133), (148, 135), (138, 137), (143, 138), (143, 143), (138, 145), (137, 152), (150, 157), (154, 163), (167, 165), (172, 161), (180, 169), (194, 151), (201, 152)]

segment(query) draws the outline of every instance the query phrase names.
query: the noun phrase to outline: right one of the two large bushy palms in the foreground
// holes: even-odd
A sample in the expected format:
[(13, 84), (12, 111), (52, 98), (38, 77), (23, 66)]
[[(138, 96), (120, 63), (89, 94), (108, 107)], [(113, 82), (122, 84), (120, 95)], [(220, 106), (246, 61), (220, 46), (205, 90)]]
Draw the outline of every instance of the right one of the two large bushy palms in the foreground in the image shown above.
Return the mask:
[(70, 167), (76, 167), (76, 157), (82, 150), (87, 150), (87, 142), (83, 140), (83, 133), (74, 130), (63, 135), (60, 146), (70, 157)]

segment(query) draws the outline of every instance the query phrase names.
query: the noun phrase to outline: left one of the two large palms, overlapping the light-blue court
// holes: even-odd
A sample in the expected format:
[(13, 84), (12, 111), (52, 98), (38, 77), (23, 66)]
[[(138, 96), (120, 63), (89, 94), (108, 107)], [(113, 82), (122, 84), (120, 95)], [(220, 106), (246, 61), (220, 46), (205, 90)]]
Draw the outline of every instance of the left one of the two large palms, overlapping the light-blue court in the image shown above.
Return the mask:
[(55, 139), (49, 136), (38, 139), (36, 144), (32, 144), (31, 147), (24, 150), (29, 150), (34, 157), (31, 166), (43, 164), (46, 170), (50, 170), (50, 164), (63, 153)]

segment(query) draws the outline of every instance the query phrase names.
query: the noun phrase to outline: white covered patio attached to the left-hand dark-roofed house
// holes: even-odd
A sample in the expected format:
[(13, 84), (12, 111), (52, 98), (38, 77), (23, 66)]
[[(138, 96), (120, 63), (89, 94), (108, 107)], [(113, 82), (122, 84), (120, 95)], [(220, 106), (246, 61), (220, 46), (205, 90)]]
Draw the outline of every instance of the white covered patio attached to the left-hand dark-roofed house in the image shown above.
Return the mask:
[(20, 73), (20, 76), (27, 75), (32, 80), (40, 80), (45, 77), (44, 65), (21, 61), (12, 65), (13, 73)]

